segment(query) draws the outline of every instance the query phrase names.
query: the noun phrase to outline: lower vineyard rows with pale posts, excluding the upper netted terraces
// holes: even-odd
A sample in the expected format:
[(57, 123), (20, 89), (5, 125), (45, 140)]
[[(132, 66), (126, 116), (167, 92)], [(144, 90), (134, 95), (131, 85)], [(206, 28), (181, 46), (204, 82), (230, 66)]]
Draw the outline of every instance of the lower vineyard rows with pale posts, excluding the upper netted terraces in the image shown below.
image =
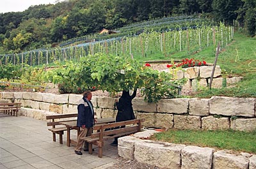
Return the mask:
[(54, 50), (33, 50), (22, 54), (3, 55), (2, 64), (28, 64), (30, 66), (49, 64), (54, 61), (79, 61), (86, 55), (98, 52), (113, 55), (133, 55), (134, 58), (163, 55), (172, 57), (177, 52), (193, 54), (207, 47), (216, 47), (220, 42), (225, 47), (232, 41), (234, 28), (220, 24), (219, 27), (202, 27), (180, 31), (149, 31), (139, 36), (125, 36), (111, 40), (94, 41), (75, 47)]

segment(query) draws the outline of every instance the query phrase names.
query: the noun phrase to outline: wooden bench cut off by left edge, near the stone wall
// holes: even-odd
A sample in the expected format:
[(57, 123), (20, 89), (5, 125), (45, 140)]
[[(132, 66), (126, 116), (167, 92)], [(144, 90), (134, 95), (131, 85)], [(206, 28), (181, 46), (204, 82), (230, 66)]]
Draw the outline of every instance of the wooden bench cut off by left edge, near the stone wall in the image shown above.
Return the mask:
[(0, 103), (0, 112), (16, 116), (20, 110), (21, 103)]

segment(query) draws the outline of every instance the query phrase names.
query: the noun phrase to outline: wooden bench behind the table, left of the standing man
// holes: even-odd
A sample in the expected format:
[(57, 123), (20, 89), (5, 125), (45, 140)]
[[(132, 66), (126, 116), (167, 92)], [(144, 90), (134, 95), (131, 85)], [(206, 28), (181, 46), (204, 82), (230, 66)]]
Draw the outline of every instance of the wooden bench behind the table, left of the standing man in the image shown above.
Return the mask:
[[(60, 135), (60, 143), (63, 144), (63, 134), (67, 131), (67, 128), (61, 124), (61, 122), (76, 121), (75, 119), (70, 119), (72, 117), (77, 117), (77, 114), (60, 114), (60, 115), (47, 115), (46, 119), (50, 120), (47, 122), (47, 126), (52, 126), (49, 131), (52, 131), (52, 140), (56, 142), (56, 134)], [(58, 126), (58, 128), (56, 128)]]

